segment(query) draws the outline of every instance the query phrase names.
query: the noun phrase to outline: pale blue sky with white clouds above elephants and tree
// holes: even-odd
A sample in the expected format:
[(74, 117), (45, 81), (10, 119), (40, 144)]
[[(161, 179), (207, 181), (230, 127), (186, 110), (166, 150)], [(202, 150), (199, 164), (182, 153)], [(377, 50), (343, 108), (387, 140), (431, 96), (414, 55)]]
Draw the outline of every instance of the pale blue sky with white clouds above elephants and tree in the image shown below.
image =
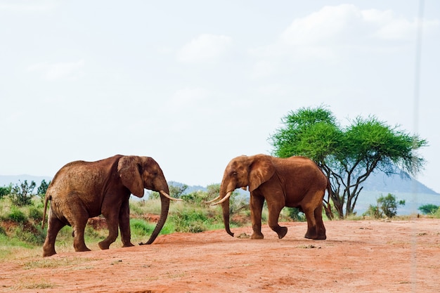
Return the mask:
[(423, 3), (419, 21), (413, 0), (0, 0), (0, 174), (144, 155), (206, 186), (325, 105), (425, 138), (416, 178), (440, 193), (440, 1)]

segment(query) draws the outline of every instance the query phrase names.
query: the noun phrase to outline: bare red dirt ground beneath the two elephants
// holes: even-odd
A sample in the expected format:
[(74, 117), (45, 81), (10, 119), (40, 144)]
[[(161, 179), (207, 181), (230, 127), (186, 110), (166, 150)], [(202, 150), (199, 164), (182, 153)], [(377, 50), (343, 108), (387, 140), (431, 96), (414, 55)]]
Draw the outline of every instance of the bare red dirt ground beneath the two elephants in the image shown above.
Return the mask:
[[(439, 292), (440, 220), (306, 223), (284, 239), (224, 230), (157, 237), (153, 245), (0, 260), (1, 292)], [(235, 236), (252, 233), (234, 229)], [(146, 239), (145, 239), (146, 240)]]

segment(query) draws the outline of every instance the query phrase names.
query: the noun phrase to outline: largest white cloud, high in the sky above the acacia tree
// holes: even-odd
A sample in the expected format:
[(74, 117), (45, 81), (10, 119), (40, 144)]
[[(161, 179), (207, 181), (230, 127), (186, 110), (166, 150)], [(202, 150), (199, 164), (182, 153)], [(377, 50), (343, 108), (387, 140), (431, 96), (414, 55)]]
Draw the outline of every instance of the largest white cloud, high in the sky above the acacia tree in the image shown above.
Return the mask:
[[(316, 58), (332, 62), (347, 50), (381, 48), (389, 52), (385, 49), (395, 48), (393, 41), (414, 41), (417, 25), (416, 19), (408, 20), (393, 11), (362, 10), (353, 4), (325, 6), (293, 20), (274, 44), (251, 53), (260, 58), (287, 57), (295, 62)], [(424, 30), (438, 26), (438, 20), (424, 22)]]

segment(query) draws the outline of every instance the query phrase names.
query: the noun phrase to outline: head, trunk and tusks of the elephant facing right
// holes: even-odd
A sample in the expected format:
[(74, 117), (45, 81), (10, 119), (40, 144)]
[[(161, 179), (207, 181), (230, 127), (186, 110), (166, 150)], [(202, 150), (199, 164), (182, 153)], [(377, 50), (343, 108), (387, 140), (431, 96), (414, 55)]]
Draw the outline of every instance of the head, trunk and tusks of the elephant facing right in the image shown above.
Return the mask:
[(121, 178), (122, 184), (127, 187), (131, 194), (143, 197), (143, 189), (149, 189), (160, 193), (161, 210), (160, 219), (157, 221), (155, 230), (150, 239), (143, 244), (151, 244), (159, 235), (160, 230), (167, 221), (169, 200), (176, 200), (169, 196), (167, 180), (160, 169), (159, 164), (151, 157), (125, 156), (119, 159), (117, 173)]

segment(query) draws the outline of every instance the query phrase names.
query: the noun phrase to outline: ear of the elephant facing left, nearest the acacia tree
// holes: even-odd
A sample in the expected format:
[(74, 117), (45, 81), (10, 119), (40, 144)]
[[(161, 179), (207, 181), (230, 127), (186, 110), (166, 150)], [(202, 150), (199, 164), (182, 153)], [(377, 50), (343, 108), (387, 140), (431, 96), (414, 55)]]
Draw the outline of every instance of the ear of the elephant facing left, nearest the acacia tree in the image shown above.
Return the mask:
[(252, 192), (257, 189), (259, 185), (268, 181), (273, 174), (275, 174), (275, 167), (273, 167), (270, 157), (266, 155), (255, 156), (250, 165), (249, 191)]

